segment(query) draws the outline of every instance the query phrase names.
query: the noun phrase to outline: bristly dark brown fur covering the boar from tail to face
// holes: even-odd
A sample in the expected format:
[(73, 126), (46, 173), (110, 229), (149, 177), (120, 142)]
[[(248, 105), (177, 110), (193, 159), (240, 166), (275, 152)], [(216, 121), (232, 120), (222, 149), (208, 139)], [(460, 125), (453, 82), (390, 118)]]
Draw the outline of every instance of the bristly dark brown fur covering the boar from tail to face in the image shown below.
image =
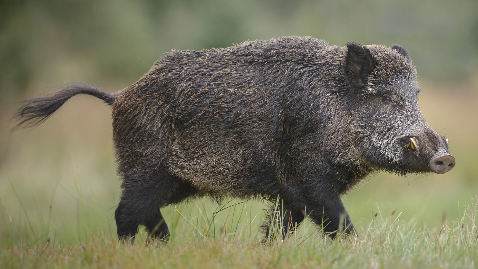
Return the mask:
[(160, 208), (204, 195), (279, 197), (284, 235), (307, 208), (334, 237), (354, 231), (340, 196), (360, 180), (377, 170), (430, 171), (431, 156), (448, 150), (418, 109), (415, 78), (399, 45), (287, 36), (172, 51), (115, 95), (72, 86), (16, 115), (33, 126), (78, 93), (112, 104), (120, 238), (140, 224), (166, 238)]

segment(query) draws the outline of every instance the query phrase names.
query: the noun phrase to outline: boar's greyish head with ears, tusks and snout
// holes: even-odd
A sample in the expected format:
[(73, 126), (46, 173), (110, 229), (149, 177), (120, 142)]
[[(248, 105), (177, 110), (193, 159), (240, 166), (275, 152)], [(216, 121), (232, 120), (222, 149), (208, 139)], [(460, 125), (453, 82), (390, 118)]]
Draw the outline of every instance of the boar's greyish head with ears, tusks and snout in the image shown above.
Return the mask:
[(345, 71), (353, 106), (350, 137), (369, 166), (390, 172), (433, 171), (455, 166), (448, 141), (418, 108), (420, 89), (408, 51), (400, 46), (349, 43)]

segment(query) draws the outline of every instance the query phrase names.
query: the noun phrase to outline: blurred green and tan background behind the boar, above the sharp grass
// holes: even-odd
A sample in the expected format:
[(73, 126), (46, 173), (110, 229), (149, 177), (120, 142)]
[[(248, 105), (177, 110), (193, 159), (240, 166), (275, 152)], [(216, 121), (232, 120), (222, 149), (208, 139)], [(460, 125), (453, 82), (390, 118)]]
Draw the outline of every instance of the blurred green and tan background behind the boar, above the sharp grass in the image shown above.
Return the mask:
[[(410, 51), (423, 89), (421, 110), (450, 139), (456, 167), (444, 175), (379, 173), (344, 201), (358, 227), (379, 210), (431, 227), (440, 225), (444, 210), (456, 219), (460, 206), (478, 194), (476, 0), (4, 0), (0, 244), (15, 233), (17, 239), (22, 233), (38, 238), (52, 227), (65, 241), (84, 239), (87, 232), (80, 227), (115, 233), (119, 183), (110, 108), (93, 97), (75, 97), (41, 126), (10, 132), (17, 101), (70, 81), (115, 92), (171, 49), (283, 35), (310, 35), (341, 46), (400, 44)], [(247, 204), (256, 213), (262, 208), (259, 202)]]

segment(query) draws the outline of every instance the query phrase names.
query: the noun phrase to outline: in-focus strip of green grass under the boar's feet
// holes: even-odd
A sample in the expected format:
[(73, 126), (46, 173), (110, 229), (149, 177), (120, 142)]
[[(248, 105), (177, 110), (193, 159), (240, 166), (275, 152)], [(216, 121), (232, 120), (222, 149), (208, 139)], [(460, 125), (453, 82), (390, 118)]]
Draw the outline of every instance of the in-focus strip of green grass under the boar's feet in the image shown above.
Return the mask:
[[(167, 207), (163, 214), (171, 237), (166, 244), (150, 240), (143, 229), (134, 244), (119, 244), (114, 224), (109, 220), (99, 226), (94, 224), (92, 220), (98, 212), (84, 201), (79, 200), (77, 208), (77, 233), (81, 240), (76, 242), (62, 242), (55, 233), (58, 227), (49, 230), (47, 224), (35, 224), (27, 214), (9, 215), (9, 236), (2, 237), (0, 266), (476, 268), (478, 262), (477, 197), (456, 220), (446, 220), (445, 211), (439, 229), (430, 229), (413, 218), (406, 221), (400, 213), (377, 212), (357, 237), (330, 240), (314, 224), (305, 222), (285, 240), (269, 244), (260, 242), (258, 224), (263, 210), (257, 202), (231, 200), (217, 205), (202, 199)], [(37, 217), (41, 219), (40, 215)]]

